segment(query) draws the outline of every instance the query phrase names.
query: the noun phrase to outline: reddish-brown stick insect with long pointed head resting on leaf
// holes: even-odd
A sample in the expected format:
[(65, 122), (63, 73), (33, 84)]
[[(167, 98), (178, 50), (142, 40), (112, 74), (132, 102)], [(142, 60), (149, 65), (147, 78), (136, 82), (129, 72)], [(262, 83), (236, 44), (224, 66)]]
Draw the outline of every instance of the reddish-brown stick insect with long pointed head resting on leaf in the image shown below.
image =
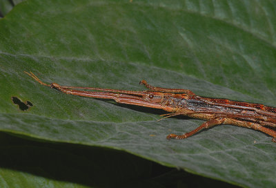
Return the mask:
[(145, 80), (142, 80), (140, 84), (146, 86), (148, 88), (147, 91), (126, 91), (110, 88), (60, 86), (56, 83), (45, 84), (32, 72), (25, 73), (39, 82), (39, 84), (55, 88), (66, 94), (110, 99), (123, 104), (163, 109), (170, 112), (162, 115), (164, 118), (186, 115), (190, 118), (206, 120), (197, 129), (183, 135), (171, 133), (167, 136), (168, 139), (184, 139), (202, 129), (208, 129), (219, 124), (231, 124), (262, 131), (272, 136), (272, 141), (276, 142), (276, 131), (274, 130), (276, 127), (276, 108), (265, 106), (264, 104), (201, 97), (188, 89), (151, 86)]

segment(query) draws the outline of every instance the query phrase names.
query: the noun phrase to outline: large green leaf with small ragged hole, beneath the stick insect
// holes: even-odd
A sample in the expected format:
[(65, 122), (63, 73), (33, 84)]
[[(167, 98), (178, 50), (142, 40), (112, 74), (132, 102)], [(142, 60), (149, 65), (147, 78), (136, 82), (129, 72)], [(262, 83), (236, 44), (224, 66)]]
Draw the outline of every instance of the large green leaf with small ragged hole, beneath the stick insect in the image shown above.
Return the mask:
[[(276, 106), (274, 1), (24, 1), (0, 20), (0, 130), (128, 151), (248, 187), (276, 185), (268, 135), (65, 95), (34, 82), (141, 90), (139, 80)], [(17, 97), (33, 106), (21, 111)], [(155, 136), (150, 136), (155, 135)]]

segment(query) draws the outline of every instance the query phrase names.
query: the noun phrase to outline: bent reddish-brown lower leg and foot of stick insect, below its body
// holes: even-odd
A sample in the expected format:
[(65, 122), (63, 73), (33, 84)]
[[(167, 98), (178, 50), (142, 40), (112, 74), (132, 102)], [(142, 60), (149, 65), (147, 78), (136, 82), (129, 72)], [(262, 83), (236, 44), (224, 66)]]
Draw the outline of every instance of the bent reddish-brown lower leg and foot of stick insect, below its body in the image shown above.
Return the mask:
[(215, 118), (213, 120), (208, 120), (207, 122), (204, 122), (203, 124), (201, 124), (201, 126), (197, 127), (197, 129), (190, 131), (189, 133), (185, 133), (183, 135), (175, 135), (175, 134), (170, 134), (167, 136), (167, 139), (170, 138), (175, 138), (175, 139), (184, 139), (184, 138), (188, 138), (191, 135), (194, 135), (195, 133), (197, 133), (198, 131), (201, 131), (201, 129), (208, 129), (212, 126), (218, 125), (218, 124), (223, 124), (224, 121), (227, 118), (225, 117), (219, 117), (219, 118)]

